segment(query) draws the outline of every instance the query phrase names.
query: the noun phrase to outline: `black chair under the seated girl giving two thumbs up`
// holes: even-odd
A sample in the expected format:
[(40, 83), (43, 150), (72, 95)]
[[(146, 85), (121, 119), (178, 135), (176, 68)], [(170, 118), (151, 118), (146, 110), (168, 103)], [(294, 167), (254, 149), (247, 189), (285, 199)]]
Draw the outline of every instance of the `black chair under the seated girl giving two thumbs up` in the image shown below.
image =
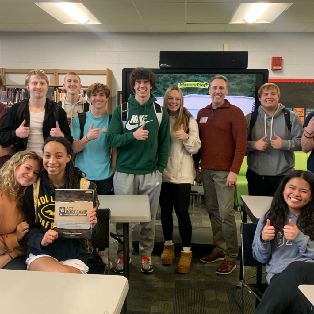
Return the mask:
[[(242, 285), (242, 314), (244, 313), (244, 287), (255, 295), (255, 308), (262, 299), (268, 284), (262, 284), (262, 266), (265, 264), (258, 262), (253, 257), (252, 244), (257, 224), (241, 223), (241, 246), (242, 246), (242, 268), (243, 268), (243, 285)], [(256, 283), (247, 284), (245, 281), (245, 266), (257, 267)]]

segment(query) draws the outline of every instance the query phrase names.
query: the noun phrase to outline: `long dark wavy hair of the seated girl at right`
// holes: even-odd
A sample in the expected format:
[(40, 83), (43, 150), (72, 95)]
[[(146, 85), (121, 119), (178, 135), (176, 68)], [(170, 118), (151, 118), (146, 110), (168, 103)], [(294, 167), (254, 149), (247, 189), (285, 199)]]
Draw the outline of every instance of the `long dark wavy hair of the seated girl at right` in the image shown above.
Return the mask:
[[(277, 191), (274, 194), (272, 204), (264, 216), (263, 227), (266, 225), (267, 219), (270, 220), (272, 226), (275, 227), (275, 236), (278, 232), (284, 234), (283, 229), (286, 225), (287, 214), (289, 208), (284, 200), (284, 188), (286, 184), (293, 178), (304, 179), (311, 188), (311, 194), (314, 194), (314, 176), (302, 170), (292, 171), (289, 175), (285, 176), (280, 182)], [(298, 228), (307, 236), (311, 241), (314, 241), (314, 202), (308, 202), (303, 208), (296, 221)]]

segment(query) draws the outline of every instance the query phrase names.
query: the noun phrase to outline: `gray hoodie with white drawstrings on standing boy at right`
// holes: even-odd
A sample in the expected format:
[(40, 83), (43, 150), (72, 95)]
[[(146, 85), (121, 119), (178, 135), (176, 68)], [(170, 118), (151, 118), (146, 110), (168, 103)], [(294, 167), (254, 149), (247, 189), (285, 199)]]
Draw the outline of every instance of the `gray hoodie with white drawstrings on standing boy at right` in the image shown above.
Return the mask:
[[(246, 115), (247, 130), (247, 167), (260, 176), (284, 176), (294, 170), (294, 151), (301, 150), (303, 126), (300, 118), (290, 111), (291, 134), (288, 130), (284, 106), (278, 104), (278, 109), (268, 116), (262, 106), (258, 108), (256, 123), (252, 129), (252, 141), (249, 141), (250, 120), (252, 113)], [(266, 126), (266, 127), (265, 127)], [(274, 133), (282, 139), (281, 149), (273, 149), (270, 140), (276, 139)], [(255, 142), (267, 135), (268, 147), (265, 151), (255, 149)]]

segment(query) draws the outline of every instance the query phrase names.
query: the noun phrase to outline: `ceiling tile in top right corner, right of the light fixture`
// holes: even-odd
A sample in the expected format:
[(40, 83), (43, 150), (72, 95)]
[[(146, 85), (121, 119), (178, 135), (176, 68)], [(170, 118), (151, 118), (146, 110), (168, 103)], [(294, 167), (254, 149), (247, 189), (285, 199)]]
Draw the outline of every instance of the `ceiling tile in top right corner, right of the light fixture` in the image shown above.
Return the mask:
[(294, 3), (274, 23), (314, 23), (314, 2)]

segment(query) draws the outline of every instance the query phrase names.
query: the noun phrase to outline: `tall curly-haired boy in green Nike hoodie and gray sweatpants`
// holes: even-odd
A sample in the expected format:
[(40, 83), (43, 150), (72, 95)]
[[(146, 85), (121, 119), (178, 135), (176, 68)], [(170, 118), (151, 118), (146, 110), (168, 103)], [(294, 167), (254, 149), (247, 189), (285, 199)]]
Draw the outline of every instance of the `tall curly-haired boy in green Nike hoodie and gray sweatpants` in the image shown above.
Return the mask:
[[(118, 147), (116, 173), (113, 177), (116, 195), (148, 195), (151, 221), (140, 223), (139, 252), (141, 271), (151, 273), (154, 268), (150, 256), (154, 248), (155, 218), (161, 187), (162, 172), (168, 163), (171, 147), (169, 116), (161, 107), (159, 126), (154, 109), (156, 99), (150, 94), (156, 85), (156, 75), (145, 68), (136, 68), (130, 74), (135, 94), (128, 99), (127, 121), (123, 127), (121, 105), (113, 112), (107, 134), (107, 145)], [(123, 233), (123, 224), (116, 224), (116, 233)], [(130, 233), (132, 253), (132, 232)], [(123, 273), (123, 246), (118, 244), (119, 260), (114, 268)]]

